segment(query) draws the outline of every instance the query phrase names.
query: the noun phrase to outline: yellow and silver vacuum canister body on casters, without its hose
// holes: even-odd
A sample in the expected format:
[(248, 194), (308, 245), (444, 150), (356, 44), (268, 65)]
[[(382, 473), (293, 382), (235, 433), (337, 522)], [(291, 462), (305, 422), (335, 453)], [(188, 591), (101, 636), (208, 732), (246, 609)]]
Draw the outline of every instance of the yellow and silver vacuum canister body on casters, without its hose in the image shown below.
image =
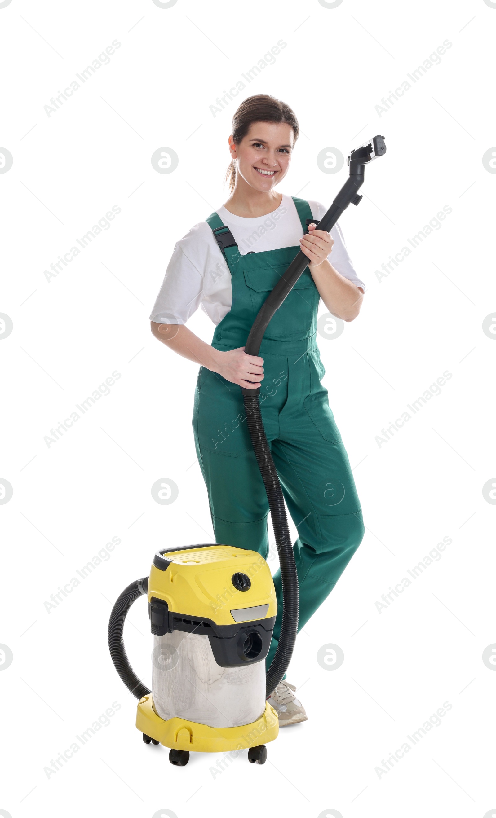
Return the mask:
[(138, 703), (143, 739), (171, 748), (180, 766), (189, 751), (242, 748), (264, 763), (279, 729), (265, 699), (277, 601), (264, 558), (220, 544), (161, 550), (147, 599), (153, 668), (151, 694)]

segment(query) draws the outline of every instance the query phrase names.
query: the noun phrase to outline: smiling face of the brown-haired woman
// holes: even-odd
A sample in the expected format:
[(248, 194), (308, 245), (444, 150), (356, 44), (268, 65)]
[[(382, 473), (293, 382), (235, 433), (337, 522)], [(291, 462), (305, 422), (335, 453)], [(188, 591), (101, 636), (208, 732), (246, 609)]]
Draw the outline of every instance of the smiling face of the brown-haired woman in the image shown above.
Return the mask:
[(229, 137), (229, 148), (236, 160), (237, 173), (260, 192), (267, 192), (286, 176), (291, 162), (294, 133), (291, 125), (275, 122), (251, 124), (246, 137), (237, 145)]

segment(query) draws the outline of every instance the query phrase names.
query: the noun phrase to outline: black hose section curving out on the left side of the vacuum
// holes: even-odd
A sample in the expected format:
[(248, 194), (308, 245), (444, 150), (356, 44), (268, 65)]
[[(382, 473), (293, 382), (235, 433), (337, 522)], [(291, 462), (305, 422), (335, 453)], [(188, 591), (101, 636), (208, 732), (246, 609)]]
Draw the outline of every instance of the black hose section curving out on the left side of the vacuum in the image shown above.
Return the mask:
[(112, 662), (120, 678), (124, 681), (124, 685), (126, 685), (128, 690), (130, 690), (137, 699), (142, 699), (143, 696), (151, 693), (151, 690), (148, 690), (147, 685), (143, 685), (129, 664), (129, 658), (124, 648), (122, 635), (129, 608), (140, 596), (147, 593), (147, 587), (148, 578), (143, 577), (142, 579), (134, 580), (127, 588), (124, 588), (124, 591), (112, 608), (109, 620), (109, 650)]

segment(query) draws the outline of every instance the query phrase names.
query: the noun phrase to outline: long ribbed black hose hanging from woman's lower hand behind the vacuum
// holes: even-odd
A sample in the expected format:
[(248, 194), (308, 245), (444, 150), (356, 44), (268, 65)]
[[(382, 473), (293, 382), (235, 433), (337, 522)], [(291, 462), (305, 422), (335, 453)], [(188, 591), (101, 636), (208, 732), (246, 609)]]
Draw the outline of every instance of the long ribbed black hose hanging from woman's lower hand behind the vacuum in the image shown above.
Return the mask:
[[(254, 391), (257, 393), (255, 394)], [(245, 402), (246, 422), (250, 431), (251, 443), (267, 492), (268, 507), (272, 516), (274, 536), (276, 537), (277, 554), (281, 565), (282, 624), (276, 654), (265, 677), (266, 695), (269, 696), (286, 673), (286, 668), (291, 661), (291, 654), (295, 647), (300, 609), (300, 587), (287, 524), (284, 497), (282, 497), (281, 483), (279, 483), (276, 466), (268, 447), (262, 412), (260, 411), (258, 390), (243, 389), (243, 400)]]

